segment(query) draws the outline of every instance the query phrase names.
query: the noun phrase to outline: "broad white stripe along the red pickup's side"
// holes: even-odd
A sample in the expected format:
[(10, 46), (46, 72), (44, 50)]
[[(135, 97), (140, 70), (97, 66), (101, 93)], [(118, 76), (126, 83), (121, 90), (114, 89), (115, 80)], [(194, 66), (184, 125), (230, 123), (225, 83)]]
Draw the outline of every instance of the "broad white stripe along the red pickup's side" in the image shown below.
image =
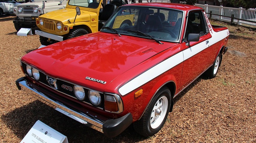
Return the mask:
[[(216, 42), (219, 42), (220, 40), (224, 39), (229, 35), (228, 30), (223, 30), (220, 32), (214, 32), (211, 30), (210, 32), (212, 35), (212, 38), (205, 40), (195, 46), (192, 46), (184, 51), (181, 51), (180, 53), (169, 57), (168, 59), (162, 61), (161, 63), (157, 64), (156, 66), (152, 67), (151, 69), (143, 72), (139, 76), (135, 77), (128, 83), (124, 84), (122, 87), (118, 89), (119, 93), (123, 96), (134, 89), (144, 85), (145, 83), (149, 82), (150, 80), (156, 78), (157, 76), (161, 75), (162, 73), (170, 70), (171, 68), (177, 66), (184, 60), (198, 54), (199, 52), (203, 51), (207, 47), (213, 45)], [(208, 44), (206, 44), (206, 41), (209, 41)]]

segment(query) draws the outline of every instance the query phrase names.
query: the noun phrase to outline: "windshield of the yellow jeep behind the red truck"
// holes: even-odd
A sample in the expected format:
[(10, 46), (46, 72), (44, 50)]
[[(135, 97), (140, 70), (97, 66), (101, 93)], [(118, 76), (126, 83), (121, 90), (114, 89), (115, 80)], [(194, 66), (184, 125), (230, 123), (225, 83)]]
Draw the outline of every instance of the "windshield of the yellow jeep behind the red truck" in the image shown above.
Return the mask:
[(85, 8), (98, 8), (99, 0), (70, 0), (69, 5)]

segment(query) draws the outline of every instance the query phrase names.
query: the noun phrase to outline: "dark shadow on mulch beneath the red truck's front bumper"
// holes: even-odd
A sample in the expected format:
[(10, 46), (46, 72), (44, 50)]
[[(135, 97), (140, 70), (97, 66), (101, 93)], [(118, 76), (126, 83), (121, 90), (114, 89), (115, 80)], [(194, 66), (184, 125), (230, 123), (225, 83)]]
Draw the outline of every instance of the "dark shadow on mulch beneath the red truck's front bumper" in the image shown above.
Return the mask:
[(53, 108), (34, 101), (30, 104), (16, 108), (3, 115), (2, 120), (11, 131), (22, 140), (37, 120), (40, 120), (63, 135), (69, 142), (139, 142), (147, 139), (138, 135), (133, 126), (129, 126), (120, 135), (107, 138), (102, 133), (71, 119)]

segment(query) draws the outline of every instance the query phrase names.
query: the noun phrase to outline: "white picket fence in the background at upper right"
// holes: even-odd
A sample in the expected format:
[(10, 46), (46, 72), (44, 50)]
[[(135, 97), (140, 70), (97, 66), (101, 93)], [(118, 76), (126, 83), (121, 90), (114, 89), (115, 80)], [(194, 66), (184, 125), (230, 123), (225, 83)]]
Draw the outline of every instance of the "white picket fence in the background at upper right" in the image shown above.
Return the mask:
[(200, 4), (195, 4), (195, 6), (204, 8), (205, 13), (208, 13), (208, 17), (210, 16), (209, 13), (211, 13), (211, 18), (213, 19), (256, 26), (256, 9), (228, 8)]

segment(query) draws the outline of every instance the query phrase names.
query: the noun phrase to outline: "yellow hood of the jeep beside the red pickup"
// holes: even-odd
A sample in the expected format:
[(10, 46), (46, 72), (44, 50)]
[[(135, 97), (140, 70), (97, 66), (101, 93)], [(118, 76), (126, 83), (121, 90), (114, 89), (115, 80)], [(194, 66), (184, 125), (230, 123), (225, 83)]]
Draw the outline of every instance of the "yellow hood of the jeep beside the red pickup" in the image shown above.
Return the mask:
[[(80, 11), (81, 11), (81, 15), (76, 16), (76, 21), (90, 21), (90, 15), (92, 14), (96, 15), (95, 12), (86, 11), (86, 10), (80, 10)], [(63, 24), (66, 24), (68, 23), (68, 19), (71, 22), (74, 22), (75, 15), (76, 15), (75, 9), (65, 8), (65, 9), (59, 9), (59, 10), (54, 10), (54, 11), (45, 13), (39, 16), (39, 18), (61, 21), (63, 22)], [(69, 18), (67, 18), (67, 16)]]

